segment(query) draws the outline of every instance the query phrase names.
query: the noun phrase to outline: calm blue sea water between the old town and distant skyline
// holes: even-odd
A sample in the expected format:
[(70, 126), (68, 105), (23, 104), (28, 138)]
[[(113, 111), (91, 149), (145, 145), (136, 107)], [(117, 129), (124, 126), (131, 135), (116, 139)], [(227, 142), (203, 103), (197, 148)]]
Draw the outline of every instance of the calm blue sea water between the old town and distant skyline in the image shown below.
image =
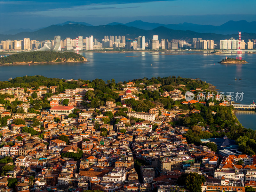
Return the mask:
[[(174, 54), (173, 54), (174, 53)], [(196, 53), (196, 54), (194, 54)], [(244, 93), (242, 104), (256, 101), (256, 54), (244, 54), (246, 64), (221, 65), (223, 58), (236, 57), (235, 52), (214, 55), (209, 52), (125, 52), (125, 53), (80, 53), (88, 62), (83, 63), (46, 63), (18, 66), (0, 66), (0, 81), (12, 76), (43, 75), (63, 79), (93, 80), (100, 78), (105, 81), (114, 78), (118, 81), (128, 81), (143, 77), (181, 76), (186, 78), (200, 78), (206, 83), (214, 84), (221, 92)], [(49, 71), (50, 70), (50, 71)], [(234, 80), (242, 78), (242, 80)], [(246, 115), (238, 116), (243, 119)], [(247, 128), (255, 129), (255, 116), (248, 122)], [(243, 123), (242, 123), (243, 124)]]

